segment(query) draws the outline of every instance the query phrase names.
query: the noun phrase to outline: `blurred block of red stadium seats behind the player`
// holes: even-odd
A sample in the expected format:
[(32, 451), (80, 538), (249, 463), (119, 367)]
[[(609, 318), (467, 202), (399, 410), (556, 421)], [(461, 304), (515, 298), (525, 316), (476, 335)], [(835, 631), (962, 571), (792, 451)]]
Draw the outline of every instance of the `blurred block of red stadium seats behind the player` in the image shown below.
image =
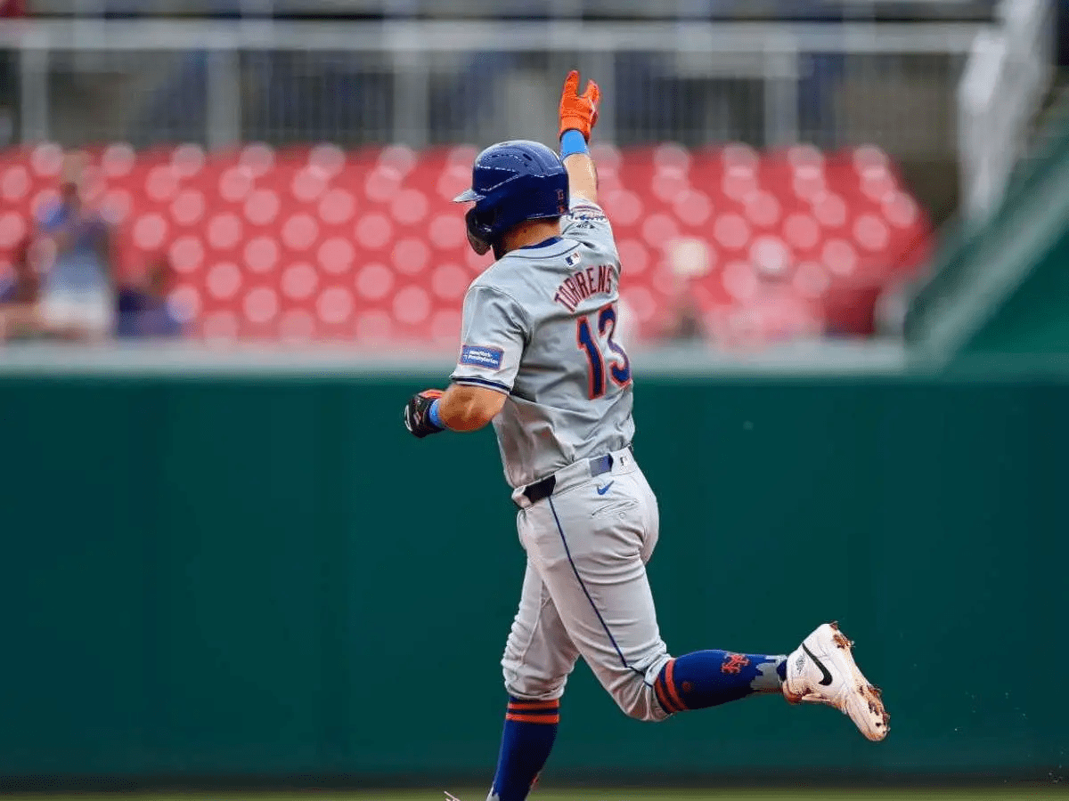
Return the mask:
[[(467, 247), (451, 202), (470, 146), (88, 152), (87, 198), (118, 226), (121, 270), (166, 255), (173, 308), (210, 341), (452, 344), (491, 261)], [(599, 144), (595, 156), (639, 337), (660, 335), (684, 296), (725, 343), (864, 333), (881, 287), (929, 247), (923, 210), (877, 147)], [(62, 157), (51, 144), (0, 152), (0, 270), (56, 197)]]

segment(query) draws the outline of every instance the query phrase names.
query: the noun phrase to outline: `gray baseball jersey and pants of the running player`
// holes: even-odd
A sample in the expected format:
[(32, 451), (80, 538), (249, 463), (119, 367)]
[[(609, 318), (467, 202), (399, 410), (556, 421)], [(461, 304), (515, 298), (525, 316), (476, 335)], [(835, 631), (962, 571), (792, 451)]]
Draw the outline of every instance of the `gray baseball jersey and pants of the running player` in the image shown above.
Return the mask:
[[(501, 659), (509, 694), (559, 698), (582, 656), (628, 714), (663, 720), (653, 682), (670, 657), (646, 576), (657, 505), (628, 449), (619, 282), (608, 220), (576, 200), (559, 237), (511, 251), (471, 284), (452, 379), (508, 394), (494, 426), (527, 551)], [(607, 472), (593, 471), (599, 460)], [(553, 494), (531, 503), (524, 486), (549, 474)]]

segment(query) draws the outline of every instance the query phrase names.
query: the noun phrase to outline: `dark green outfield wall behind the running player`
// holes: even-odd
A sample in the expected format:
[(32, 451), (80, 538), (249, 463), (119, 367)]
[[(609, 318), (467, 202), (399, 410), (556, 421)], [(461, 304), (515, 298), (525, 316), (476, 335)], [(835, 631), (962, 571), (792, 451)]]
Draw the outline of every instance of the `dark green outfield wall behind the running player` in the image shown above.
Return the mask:
[[(0, 774), (489, 780), (524, 554), (493, 436), (402, 430), (425, 383), (0, 379)], [(1060, 771), (1067, 410), (1066, 377), (641, 380), (669, 647), (838, 618), (892, 733), (639, 723), (580, 666), (545, 780)]]

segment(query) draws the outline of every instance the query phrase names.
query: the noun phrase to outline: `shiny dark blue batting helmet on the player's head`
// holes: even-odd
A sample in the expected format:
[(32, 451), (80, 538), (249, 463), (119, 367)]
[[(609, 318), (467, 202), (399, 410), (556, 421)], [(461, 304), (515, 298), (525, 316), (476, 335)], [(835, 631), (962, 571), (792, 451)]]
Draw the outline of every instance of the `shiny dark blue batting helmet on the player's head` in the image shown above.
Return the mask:
[(468, 241), (479, 253), (513, 225), (568, 213), (568, 173), (560, 157), (538, 142), (498, 142), (471, 168), (471, 188), (458, 203), (475, 201), (466, 216)]

